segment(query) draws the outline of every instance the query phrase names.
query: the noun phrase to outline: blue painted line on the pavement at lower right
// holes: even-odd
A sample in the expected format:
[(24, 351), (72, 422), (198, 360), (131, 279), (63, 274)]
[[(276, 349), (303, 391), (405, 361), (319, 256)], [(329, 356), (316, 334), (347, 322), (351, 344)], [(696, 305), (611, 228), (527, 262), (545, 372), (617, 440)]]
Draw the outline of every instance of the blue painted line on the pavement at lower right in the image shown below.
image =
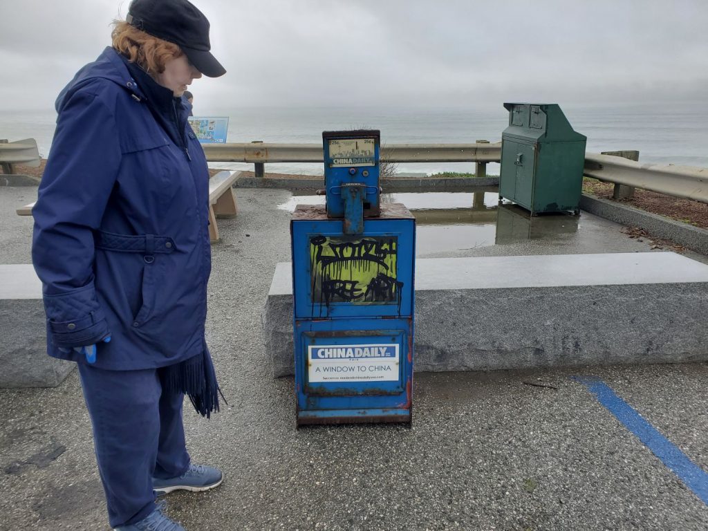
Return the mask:
[(691, 461), (685, 453), (666, 437), (656, 430), (650, 423), (636, 412), (632, 406), (619, 398), (612, 389), (602, 380), (593, 377), (573, 377), (576, 382), (583, 384), (590, 392), (598, 397), (617, 420), (634, 433), (646, 447), (661, 459), (678, 479), (698, 496), (703, 503), (708, 505), (708, 474)]

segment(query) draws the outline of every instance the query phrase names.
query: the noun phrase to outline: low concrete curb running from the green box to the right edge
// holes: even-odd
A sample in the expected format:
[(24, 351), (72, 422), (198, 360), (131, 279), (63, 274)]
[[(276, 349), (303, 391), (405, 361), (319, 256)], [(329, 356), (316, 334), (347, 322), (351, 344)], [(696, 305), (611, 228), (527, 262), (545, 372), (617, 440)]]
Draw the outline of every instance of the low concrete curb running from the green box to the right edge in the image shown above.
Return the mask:
[(687, 249), (708, 255), (708, 230), (706, 229), (693, 227), (623, 203), (595, 198), (592, 195), (583, 194), (580, 207), (590, 214), (623, 225), (639, 227), (653, 236), (675, 241)]

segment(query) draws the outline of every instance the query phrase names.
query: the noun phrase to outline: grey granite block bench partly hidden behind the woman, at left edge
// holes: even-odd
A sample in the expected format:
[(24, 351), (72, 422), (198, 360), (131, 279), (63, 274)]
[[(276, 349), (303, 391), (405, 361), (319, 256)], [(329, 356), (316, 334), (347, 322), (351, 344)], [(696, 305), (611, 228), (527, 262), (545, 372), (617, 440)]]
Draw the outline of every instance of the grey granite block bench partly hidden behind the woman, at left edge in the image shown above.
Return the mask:
[(47, 355), (42, 282), (31, 264), (0, 265), (0, 387), (56, 387), (75, 363)]

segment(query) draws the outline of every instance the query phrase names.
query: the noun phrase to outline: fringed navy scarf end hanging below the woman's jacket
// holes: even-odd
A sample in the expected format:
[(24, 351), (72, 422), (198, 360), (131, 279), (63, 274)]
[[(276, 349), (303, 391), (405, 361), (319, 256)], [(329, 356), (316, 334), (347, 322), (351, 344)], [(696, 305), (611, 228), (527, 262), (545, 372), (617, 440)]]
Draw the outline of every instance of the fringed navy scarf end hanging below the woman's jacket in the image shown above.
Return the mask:
[(210, 418), (213, 412), (219, 411), (219, 394), (224, 404), (227, 404), (219, 389), (212, 355), (206, 344), (201, 354), (164, 367), (161, 370), (160, 380), (164, 391), (184, 393), (189, 396), (197, 413), (206, 418)]

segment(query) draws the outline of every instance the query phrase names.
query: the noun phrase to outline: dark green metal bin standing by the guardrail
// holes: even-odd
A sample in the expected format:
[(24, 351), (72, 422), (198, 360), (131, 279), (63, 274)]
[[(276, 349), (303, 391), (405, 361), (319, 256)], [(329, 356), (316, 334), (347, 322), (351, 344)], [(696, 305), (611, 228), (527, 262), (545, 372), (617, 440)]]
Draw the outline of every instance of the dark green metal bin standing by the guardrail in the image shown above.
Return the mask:
[(555, 103), (504, 103), (499, 200), (539, 212), (579, 212), (587, 138)]

